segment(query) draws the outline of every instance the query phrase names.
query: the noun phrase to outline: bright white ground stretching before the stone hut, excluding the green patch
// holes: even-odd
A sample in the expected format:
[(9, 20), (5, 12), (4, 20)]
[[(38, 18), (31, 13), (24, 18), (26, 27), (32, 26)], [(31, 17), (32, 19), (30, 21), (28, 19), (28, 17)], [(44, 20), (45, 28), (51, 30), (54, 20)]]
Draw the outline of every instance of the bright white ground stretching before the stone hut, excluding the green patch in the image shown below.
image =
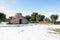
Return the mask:
[(0, 40), (60, 40), (60, 34), (50, 34), (48, 28), (60, 25), (0, 25)]

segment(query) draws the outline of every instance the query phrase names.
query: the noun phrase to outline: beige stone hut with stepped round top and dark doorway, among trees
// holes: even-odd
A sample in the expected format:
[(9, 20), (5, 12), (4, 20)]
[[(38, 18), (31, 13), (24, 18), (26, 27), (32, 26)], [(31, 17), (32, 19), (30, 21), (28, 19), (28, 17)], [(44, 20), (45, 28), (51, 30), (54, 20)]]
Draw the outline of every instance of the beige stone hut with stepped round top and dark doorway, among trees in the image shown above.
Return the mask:
[(15, 16), (10, 20), (12, 24), (27, 24), (28, 20), (25, 19), (21, 13), (16, 13)]

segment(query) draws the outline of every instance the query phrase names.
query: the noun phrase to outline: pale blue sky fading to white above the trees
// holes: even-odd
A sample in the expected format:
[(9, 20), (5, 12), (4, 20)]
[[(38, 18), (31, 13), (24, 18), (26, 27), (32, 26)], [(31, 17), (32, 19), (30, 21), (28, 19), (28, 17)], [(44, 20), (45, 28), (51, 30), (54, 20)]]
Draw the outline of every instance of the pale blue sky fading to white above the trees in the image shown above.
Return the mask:
[(31, 15), (38, 12), (46, 17), (51, 14), (60, 16), (60, 0), (0, 0), (0, 12), (7, 17), (21, 12), (22, 15)]

